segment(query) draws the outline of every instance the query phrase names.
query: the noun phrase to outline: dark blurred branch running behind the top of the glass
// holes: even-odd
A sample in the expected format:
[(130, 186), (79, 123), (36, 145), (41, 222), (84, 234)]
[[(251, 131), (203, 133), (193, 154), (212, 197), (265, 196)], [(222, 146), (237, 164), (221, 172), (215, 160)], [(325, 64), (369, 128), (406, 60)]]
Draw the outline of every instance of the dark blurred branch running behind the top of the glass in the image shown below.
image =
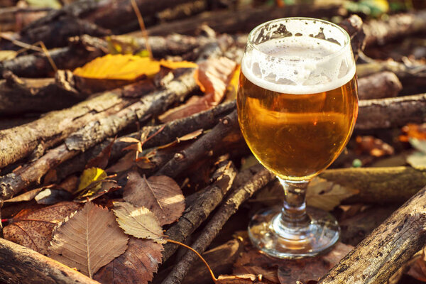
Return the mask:
[(258, 24), (291, 16), (306, 17), (331, 17), (345, 16), (346, 10), (342, 6), (311, 6), (288, 5), (282, 8), (250, 8), (237, 11), (213, 11), (205, 12), (199, 16), (187, 18), (181, 21), (161, 23), (148, 28), (150, 35), (166, 35), (169, 33), (195, 34), (202, 24), (207, 24), (218, 33), (249, 32)]

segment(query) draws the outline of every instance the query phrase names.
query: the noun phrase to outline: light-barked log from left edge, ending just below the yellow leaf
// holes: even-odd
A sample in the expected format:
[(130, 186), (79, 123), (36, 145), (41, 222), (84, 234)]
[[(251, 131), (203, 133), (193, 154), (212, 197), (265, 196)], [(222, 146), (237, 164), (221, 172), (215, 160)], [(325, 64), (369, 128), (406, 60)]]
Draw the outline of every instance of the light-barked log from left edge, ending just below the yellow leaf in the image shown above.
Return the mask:
[(69, 109), (51, 111), (29, 124), (0, 131), (0, 168), (25, 158), (37, 148), (43, 152), (43, 149), (60, 143), (89, 121), (96, 121), (127, 107), (136, 100), (129, 98), (130, 94), (141, 96), (143, 84), (131, 84), (104, 92)]

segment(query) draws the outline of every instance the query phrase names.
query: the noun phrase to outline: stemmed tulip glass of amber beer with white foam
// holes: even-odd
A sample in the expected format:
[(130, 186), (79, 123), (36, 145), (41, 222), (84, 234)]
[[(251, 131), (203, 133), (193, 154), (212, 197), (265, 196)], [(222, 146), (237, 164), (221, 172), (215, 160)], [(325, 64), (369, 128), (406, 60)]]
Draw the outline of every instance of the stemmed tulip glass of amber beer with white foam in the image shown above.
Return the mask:
[(339, 239), (332, 215), (306, 207), (312, 178), (342, 152), (358, 114), (355, 61), (344, 29), (281, 18), (251, 31), (241, 62), (238, 117), (258, 161), (283, 185), (283, 208), (258, 212), (249, 236), (278, 258), (315, 256)]

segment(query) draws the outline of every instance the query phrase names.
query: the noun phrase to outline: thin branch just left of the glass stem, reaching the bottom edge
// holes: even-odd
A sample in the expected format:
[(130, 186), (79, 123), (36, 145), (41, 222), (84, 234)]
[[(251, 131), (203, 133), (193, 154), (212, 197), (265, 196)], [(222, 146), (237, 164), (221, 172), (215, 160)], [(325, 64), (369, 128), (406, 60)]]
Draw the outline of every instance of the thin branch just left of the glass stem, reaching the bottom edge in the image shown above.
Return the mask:
[[(222, 226), (224, 226), (226, 221), (228, 221), (229, 217), (238, 210), (239, 206), (249, 199), (254, 192), (261, 189), (261, 187), (265, 186), (274, 178), (275, 175), (273, 175), (273, 173), (263, 168), (243, 186), (233, 190), (231, 195), (229, 195), (229, 197), (227, 197), (224, 201), (224, 204), (217, 209), (217, 213), (214, 214), (209, 223), (204, 226), (204, 229), (200, 236), (198, 236), (197, 241), (192, 244), (192, 249), (195, 249), (200, 253), (207, 249), (207, 246), (209, 246), (214, 237), (217, 236), (219, 231), (222, 229)], [(195, 259), (197, 259), (195, 253), (190, 251), (187, 252), (185, 256), (180, 259), (178, 264), (175, 265), (173, 271), (168, 275), (168, 277), (165, 278), (163, 284), (181, 283), (187, 272), (192, 267), (192, 263), (194, 263)]]

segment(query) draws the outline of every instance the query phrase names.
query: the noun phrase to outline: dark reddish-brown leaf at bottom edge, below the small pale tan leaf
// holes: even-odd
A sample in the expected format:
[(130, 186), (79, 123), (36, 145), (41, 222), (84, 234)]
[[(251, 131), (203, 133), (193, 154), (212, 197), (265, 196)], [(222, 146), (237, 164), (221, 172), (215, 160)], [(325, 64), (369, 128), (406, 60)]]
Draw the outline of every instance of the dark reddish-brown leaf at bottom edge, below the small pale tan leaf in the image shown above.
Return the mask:
[(161, 263), (163, 246), (153, 240), (130, 237), (128, 248), (101, 268), (94, 279), (100, 283), (148, 283)]

